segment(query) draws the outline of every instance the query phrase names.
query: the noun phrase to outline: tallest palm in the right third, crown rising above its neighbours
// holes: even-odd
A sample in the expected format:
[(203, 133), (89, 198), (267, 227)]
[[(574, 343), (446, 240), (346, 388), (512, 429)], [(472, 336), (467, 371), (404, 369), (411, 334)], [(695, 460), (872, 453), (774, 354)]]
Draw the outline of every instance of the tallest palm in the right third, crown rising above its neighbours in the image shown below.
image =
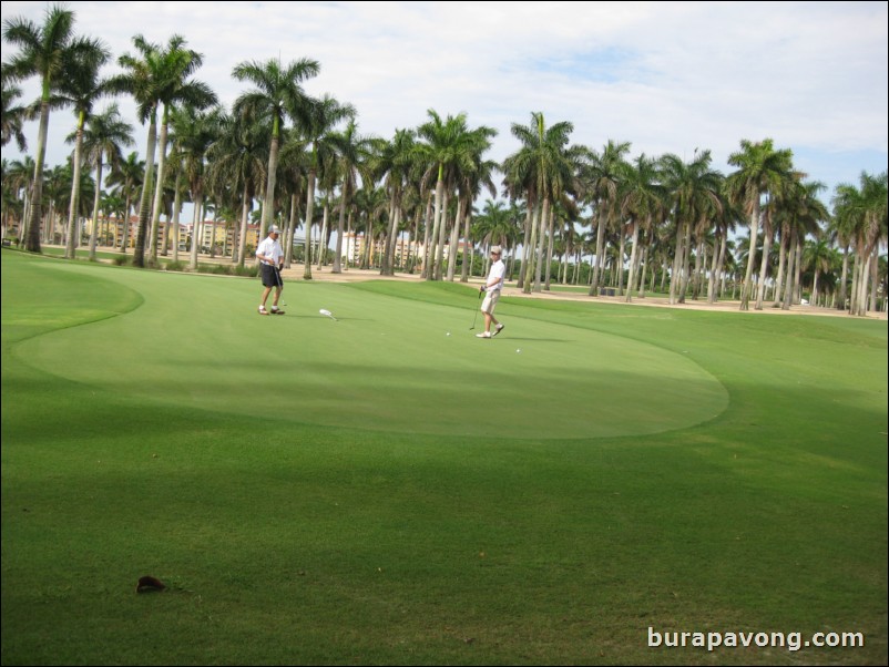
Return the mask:
[(750, 219), (750, 253), (740, 291), (740, 309), (748, 310), (756, 237), (759, 232), (760, 198), (764, 194), (775, 194), (781, 189), (789, 177), (794, 154), (789, 148), (776, 151), (770, 138), (759, 143), (744, 138), (740, 141), (740, 148), (728, 156), (728, 164), (737, 166), (738, 171), (728, 176), (727, 186), (732, 201), (742, 204)]

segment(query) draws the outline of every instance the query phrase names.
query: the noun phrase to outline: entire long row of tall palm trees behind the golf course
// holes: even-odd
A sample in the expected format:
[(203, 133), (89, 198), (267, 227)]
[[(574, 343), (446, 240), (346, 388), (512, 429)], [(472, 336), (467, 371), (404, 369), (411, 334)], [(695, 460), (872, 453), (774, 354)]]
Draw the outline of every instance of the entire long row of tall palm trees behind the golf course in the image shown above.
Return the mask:
[[(616, 289), (630, 300), (663, 267), (658, 273), (668, 276), (671, 302), (683, 302), (689, 293), (697, 298), (704, 283), (707, 299), (715, 300), (732, 265), (730, 236), (747, 226), (742, 309), (748, 309), (750, 301), (762, 309), (769, 288), (778, 307), (789, 308), (800, 298), (803, 250), (809, 237), (828, 238), (844, 248), (840, 290), (846, 289), (845, 267), (851, 254), (850, 311), (864, 314), (876, 301), (879, 252), (887, 240), (886, 173), (862, 174), (860, 187), (839, 186), (831, 215), (817, 198), (824, 186), (808, 182), (794, 168), (791, 152), (776, 148), (770, 138), (743, 140), (728, 158), (736, 171), (724, 176), (713, 168), (709, 151), (696, 150), (687, 162), (673, 154), (630, 160), (629, 142), (610, 140), (601, 151), (574, 145), (572, 123), (548, 125), (537, 112), (529, 125), (512, 125), (520, 147), (497, 163), (486, 157), (495, 131), (471, 127), (464, 113), (442, 116), (429, 110), (425, 123), (396, 130), (390, 141), (361, 135), (350, 104), (305, 92), (305, 82), (320, 72), (320, 64), (310, 59), (287, 65), (277, 60), (239, 63), (232, 75), (252, 88), (237, 98), (231, 112), (194, 78), (203, 58), (187, 48), (182, 35), (171, 37), (166, 44), (134, 37), (135, 53), (117, 60), (123, 73), (102, 79), (109, 53), (101, 42), (74, 35), (73, 23), (73, 12), (52, 7), (42, 25), (22, 19), (3, 25), (4, 40), (20, 48), (3, 63), (3, 144), (14, 138), (23, 145), (22, 123), (40, 119), (31, 181), (13, 176), (14, 168), (8, 177), (6, 163), (3, 167), (4, 203), (8, 181), (28, 202), (22, 219), (29, 250), (40, 252), (41, 228), (45, 233), (42, 174), (49, 113), (71, 106), (78, 121), (69, 137), (74, 144), (65, 232), (69, 257), (76, 243), (80, 168), (89, 164), (95, 170), (92, 217), (98, 220), (103, 167), (109, 164), (106, 184), (126, 201), (127, 216), (139, 201), (136, 266), (156, 261), (162, 215), (175, 218), (164, 229), (177, 234), (185, 198), (194, 204), (194, 239), (200, 238), (206, 209), (227, 211), (229, 218), (239, 214), (231, 253), (243, 265), (248, 219), (259, 202), (260, 237), (273, 220), (285, 227), (288, 264), (292, 239), (304, 226), (306, 279), (311, 278), (310, 232), (319, 226), (319, 247), (328, 247), (334, 213), (335, 273), (343, 270), (344, 238), (357, 229), (364, 229), (366, 239), (381, 240), (380, 270), (394, 273), (397, 239), (407, 233), (409, 243), (422, 249), (419, 263), (429, 280), (456, 279), (461, 240), (473, 250), (463, 254), (461, 280), (468, 280), (477, 244), (500, 243), (521, 269), (520, 287), (539, 291), (550, 288), (554, 255), (564, 260), (559, 271), (564, 280), (569, 257), (575, 264), (584, 261), (579, 239), (589, 227), (595, 239), (589, 260), (591, 296), (600, 294), (609, 268), (607, 274), (617, 278)], [(17, 106), (17, 82), (34, 75), (41, 79), (41, 99), (31, 106)], [(144, 164), (135, 154), (122, 157), (122, 147), (132, 143), (132, 126), (120, 117), (116, 105), (93, 111), (99, 99), (111, 94), (131, 95), (139, 121), (149, 124)], [(497, 196), (494, 173), (502, 174), (501, 193), (509, 208), (489, 201), (477, 212), (473, 203), (483, 191)], [(91, 258), (96, 227), (92, 226), (90, 238)], [(171, 240), (174, 255), (178, 252), (177, 238), (163, 238), (161, 253)], [(192, 267), (198, 246), (192, 243)], [(518, 252), (520, 257), (514, 256)], [(326, 253), (319, 255), (323, 263)], [(361, 259), (364, 265), (369, 261)], [(845, 294), (838, 300), (846, 307)]]

